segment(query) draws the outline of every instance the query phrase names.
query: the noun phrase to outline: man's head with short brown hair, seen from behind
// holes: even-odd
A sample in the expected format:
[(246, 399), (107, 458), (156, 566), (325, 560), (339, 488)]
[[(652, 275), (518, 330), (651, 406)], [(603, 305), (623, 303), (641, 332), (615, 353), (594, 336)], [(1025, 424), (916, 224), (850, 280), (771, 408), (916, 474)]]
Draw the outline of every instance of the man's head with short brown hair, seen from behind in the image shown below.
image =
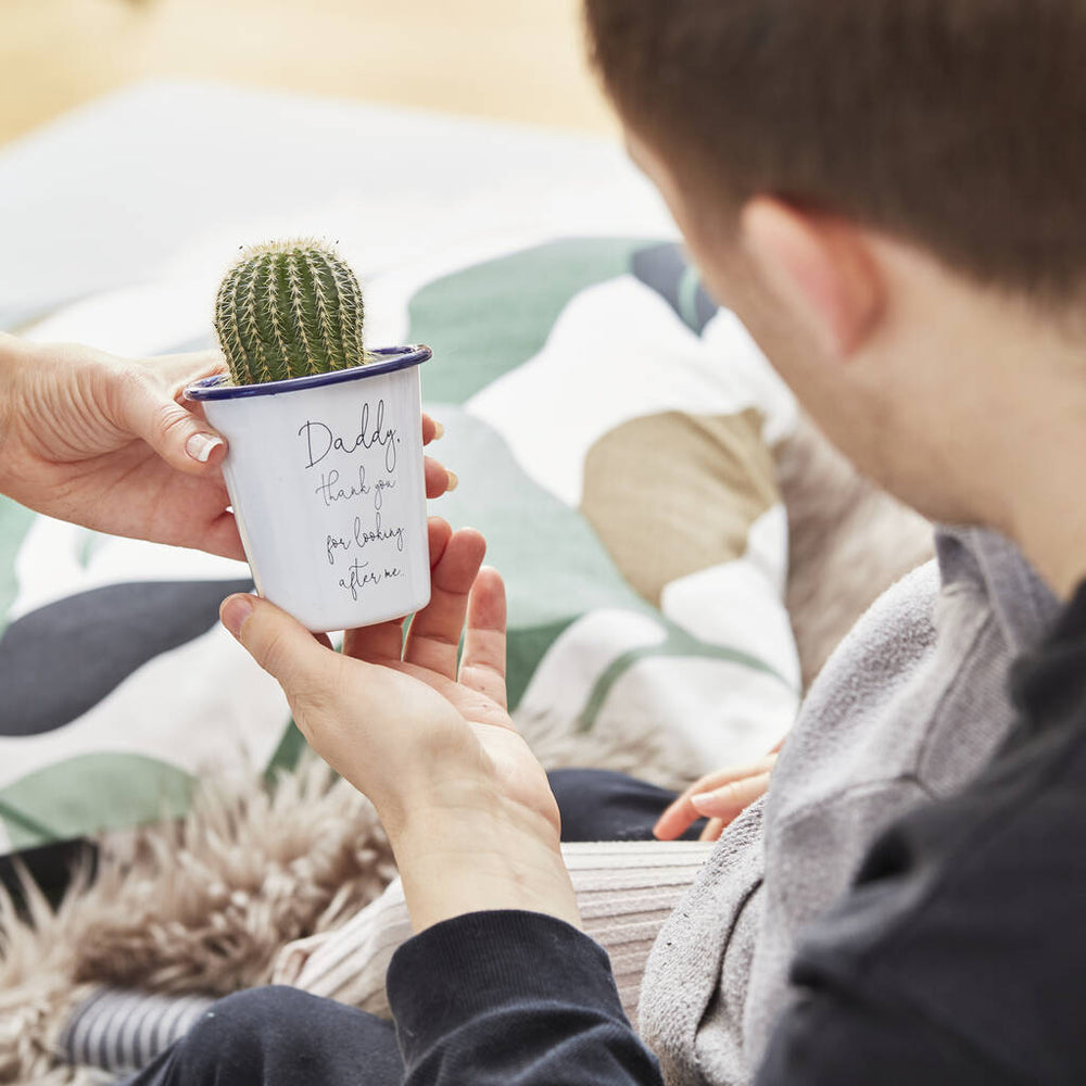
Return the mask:
[(1086, 2), (585, 9), (634, 157), (830, 435), (932, 516), (1009, 518), (969, 446), (1031, 355), (1081, 353)]

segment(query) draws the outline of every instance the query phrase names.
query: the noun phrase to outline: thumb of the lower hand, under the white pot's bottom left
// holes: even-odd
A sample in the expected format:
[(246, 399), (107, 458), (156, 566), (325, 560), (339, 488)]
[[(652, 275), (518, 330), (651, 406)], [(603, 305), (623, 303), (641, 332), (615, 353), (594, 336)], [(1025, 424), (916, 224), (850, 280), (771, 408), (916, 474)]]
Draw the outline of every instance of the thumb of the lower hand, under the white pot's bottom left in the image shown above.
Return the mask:
[(303, 708), (334, 698), (342, 664), (338, 653), (318, 644), (301, 622), (257, 596), (228, 596), (219, 608), (223, 626), (282, 687), (301, 716)]

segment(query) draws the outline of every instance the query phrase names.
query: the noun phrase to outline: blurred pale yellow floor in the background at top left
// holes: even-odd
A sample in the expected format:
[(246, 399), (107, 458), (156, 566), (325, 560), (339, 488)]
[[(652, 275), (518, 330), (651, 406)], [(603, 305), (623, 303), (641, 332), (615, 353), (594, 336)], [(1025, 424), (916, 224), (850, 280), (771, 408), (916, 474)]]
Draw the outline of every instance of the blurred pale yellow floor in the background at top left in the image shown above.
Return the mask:
[(148, 77), (594, 131), (580, 0), (0, 0), (0, 143)]

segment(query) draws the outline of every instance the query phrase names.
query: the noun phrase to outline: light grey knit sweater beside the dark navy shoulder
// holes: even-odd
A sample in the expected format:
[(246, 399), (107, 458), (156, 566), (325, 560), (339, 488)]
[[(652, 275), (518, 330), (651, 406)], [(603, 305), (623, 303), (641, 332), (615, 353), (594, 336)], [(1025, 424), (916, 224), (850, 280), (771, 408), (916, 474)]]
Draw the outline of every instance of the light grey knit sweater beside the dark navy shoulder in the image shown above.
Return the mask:
[(1059, 604), (1019, 552), (939, 531), (812, 686), (768, 797), (721, 837), (649, 955), (641, 1033), (669, 1084), (749, 1081), (790, 998), (804, 924), (879, 832), (970, 780), (1010, 729), (1009, 665)]

